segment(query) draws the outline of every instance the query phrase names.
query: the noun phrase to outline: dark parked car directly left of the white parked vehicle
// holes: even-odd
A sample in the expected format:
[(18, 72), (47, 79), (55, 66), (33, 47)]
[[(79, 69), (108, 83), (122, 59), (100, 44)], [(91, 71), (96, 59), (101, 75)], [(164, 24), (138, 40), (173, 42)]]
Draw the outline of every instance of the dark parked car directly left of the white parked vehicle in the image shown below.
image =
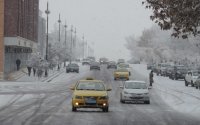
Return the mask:
[(169, 78), (173, 80), (185, 79), (185, 75), (187, 71), (188, 71), (188, 68), (185, 67), (184, 65), (175, 65), (174, 69), (169, 75)]

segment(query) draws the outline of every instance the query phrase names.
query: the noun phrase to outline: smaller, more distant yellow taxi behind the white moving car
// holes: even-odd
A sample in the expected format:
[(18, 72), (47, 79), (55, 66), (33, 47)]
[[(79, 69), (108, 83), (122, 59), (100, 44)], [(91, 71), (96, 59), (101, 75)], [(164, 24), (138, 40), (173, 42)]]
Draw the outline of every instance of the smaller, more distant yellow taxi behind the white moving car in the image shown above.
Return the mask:
[(128, 69), (121, 68), (114, 71), (114, 80), (129, 80), (129, 71)]

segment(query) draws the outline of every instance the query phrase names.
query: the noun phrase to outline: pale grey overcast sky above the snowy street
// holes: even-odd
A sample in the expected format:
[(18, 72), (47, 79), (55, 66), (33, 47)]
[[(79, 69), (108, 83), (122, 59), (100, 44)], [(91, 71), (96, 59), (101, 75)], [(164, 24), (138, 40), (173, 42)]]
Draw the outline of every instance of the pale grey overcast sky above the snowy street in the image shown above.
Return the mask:
[[(95, 55), (110, 59), (130, 59), (125, 48), (125, 37), (139, 36), (144, 29), (153, 25), (150, 11), (142, 6), (142, 0), (48, 0), (49, 27), (61, 14), (62, 22), (77, 27), (77, 34), (92, 45)], [(47, 0), (40, 0), (40, 9), (44, 12)], [(46, 15), (43, 13), (43, 16)]]

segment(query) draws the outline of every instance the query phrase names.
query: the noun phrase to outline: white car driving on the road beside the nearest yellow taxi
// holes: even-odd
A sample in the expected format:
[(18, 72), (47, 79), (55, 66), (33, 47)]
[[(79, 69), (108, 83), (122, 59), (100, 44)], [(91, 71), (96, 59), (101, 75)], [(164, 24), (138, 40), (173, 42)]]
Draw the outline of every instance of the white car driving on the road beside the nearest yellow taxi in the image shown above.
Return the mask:
[(144, 81), (125, 81), (123, 86), (120, 86), (120, 102), (143, 101), (145, 104), (150, 104), (148, 85)]

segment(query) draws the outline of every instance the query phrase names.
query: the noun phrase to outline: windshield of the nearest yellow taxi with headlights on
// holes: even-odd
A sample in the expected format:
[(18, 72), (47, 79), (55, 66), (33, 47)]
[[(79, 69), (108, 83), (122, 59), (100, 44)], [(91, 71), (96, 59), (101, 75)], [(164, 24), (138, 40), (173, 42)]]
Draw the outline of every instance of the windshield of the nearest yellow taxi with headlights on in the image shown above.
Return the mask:
[(104, 84), (101, 82), (80, 82), (78, 83), (77, 90), (95, 90), (105, 91)]

